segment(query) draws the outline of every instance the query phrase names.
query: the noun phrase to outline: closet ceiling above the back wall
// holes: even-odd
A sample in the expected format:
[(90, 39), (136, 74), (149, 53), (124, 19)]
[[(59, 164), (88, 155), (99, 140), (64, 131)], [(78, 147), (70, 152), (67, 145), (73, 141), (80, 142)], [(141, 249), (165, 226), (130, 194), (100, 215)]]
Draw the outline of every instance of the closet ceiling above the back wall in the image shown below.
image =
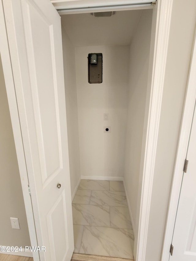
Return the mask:
[(129, 45), (142, 10), (117, 11), (111, 17), (90, 13), (61, 16), (62, 26), (75, 47)]

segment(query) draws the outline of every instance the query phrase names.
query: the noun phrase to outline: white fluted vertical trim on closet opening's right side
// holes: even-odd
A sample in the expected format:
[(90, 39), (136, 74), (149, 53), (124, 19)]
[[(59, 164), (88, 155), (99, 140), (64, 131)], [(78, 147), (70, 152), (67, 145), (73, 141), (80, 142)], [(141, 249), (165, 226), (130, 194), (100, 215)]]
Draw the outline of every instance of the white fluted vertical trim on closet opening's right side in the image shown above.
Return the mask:
[(153, 77), (150, 94), (147, 135), (145, 141), (146, 145), (142, 175), (141, 206), (139, 215), (136, 261), (145, 260), (172, 2), (173, 0), (159, 0), (157, 1), (158, 6), (156, 6), (157, 21), (153, 60)]

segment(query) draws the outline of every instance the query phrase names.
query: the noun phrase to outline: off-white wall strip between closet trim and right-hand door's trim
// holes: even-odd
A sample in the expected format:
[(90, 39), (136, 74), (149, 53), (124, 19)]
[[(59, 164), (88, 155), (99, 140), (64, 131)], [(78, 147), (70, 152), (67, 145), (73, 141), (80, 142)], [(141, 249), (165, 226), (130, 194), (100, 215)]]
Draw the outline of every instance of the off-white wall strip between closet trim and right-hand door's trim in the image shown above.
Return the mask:
[(173, 0), (145, 261), (161, 258), (195, 25), (196, 1)]

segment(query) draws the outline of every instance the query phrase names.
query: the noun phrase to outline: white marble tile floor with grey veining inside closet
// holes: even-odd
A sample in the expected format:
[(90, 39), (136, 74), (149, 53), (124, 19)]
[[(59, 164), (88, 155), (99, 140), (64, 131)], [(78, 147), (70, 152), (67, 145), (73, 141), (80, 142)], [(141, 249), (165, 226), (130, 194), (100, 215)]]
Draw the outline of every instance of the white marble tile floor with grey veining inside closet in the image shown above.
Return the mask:
[(123, 181), (81, 180), (72, 212), (74, 253), (134, 259)]

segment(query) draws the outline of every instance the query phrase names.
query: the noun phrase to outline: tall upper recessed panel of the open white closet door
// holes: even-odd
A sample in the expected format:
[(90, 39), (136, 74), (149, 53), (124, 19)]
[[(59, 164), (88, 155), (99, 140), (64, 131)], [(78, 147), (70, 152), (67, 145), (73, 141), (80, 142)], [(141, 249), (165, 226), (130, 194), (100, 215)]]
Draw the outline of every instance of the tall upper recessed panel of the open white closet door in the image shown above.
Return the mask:
[(30, 34), (26, 45), (32, 51), (28, 54), (32, 68), (32, 102), (42, 181), (47, 185), (46, 179), (62, 169), (53, 25), (36, 6), (25, 0), (22, 4), (26, 5), (28, 13), (24, 23), (28, 24)]

